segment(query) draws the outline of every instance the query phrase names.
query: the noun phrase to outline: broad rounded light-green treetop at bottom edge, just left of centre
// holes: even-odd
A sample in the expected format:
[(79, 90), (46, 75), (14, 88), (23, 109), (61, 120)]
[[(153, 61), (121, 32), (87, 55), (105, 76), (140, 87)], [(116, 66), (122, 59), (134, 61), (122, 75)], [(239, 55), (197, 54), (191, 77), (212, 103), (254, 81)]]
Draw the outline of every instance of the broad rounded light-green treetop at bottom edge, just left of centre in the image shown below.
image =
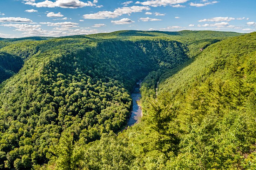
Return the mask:
[(110, 132), (103, 134), (100, 141), (91, 143), (83, 156), (83, 169), (131, 169), (135, 156), (125, 139)]

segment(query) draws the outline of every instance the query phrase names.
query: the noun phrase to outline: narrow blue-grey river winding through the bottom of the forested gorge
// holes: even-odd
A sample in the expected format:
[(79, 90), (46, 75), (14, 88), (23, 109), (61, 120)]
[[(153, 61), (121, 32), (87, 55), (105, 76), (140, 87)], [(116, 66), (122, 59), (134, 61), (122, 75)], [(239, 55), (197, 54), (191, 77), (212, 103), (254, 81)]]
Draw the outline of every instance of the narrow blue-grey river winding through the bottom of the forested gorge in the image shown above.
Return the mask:
[(127, 123), (128, 126), (133, 126), (135, 123), (138, 123), (140, 118), (142, 117), (141, 106), (139, 106), (137, 103), (141, 99), (140, 85), (141, 81), (136, 83), (136, 86), (134, 87), (133, 93), (131, 95), (133, 100), (133, 109)]

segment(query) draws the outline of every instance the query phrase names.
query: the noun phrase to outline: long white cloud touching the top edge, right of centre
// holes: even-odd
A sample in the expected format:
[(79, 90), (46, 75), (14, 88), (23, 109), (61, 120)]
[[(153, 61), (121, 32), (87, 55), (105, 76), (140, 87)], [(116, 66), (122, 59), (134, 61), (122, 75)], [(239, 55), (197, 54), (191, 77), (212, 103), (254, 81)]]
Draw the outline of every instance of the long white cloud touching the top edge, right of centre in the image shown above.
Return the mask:
[(135, 4), (157, 7), (157, 6), (182, 4), (187, 1), (189, 1), (189, 0), (148, 0), (148, 1), (144, 1), (144, 2), (137, 1), (137, 2), (135, 2)]

